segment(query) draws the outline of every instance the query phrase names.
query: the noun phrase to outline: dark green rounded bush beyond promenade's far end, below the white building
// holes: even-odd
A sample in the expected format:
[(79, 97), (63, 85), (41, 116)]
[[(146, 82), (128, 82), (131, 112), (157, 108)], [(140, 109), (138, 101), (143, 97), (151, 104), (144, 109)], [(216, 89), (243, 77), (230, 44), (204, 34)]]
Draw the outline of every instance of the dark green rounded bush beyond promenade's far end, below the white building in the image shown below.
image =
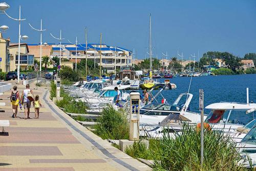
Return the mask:
[(58, 75), (61, 79), (67, 79), (73, 82), (79, 80), (78, 72), (72, 70), (72, 68), (69, 66), (61, 66), (61, 69)]

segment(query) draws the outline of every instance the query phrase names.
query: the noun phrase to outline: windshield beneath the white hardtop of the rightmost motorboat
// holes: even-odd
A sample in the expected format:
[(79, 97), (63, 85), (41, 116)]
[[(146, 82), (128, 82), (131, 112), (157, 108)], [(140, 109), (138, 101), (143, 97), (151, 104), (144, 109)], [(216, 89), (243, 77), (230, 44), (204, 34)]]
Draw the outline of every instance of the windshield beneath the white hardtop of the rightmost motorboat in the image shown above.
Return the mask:
[(245, 112), (245, 110), (214, 110), (209, 113), (205, 122), (245, 125), (254, 119), (253, 113), (245, 114)]

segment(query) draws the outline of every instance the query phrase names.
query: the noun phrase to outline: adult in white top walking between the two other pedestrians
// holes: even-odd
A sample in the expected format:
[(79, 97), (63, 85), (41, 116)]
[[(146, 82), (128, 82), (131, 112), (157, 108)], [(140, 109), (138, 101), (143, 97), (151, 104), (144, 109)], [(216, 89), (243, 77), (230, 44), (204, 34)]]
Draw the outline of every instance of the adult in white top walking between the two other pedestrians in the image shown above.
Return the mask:
[(22, 102), (25, 109), (25, 119), (30, 119), (29, 113), (30, 113), (30, 107), (31, 107), (31, 101), (34, 101), (34, 95), (33, 91), (29, 89), (29, 84), (26, 85), (26, 89), (22, 93)]

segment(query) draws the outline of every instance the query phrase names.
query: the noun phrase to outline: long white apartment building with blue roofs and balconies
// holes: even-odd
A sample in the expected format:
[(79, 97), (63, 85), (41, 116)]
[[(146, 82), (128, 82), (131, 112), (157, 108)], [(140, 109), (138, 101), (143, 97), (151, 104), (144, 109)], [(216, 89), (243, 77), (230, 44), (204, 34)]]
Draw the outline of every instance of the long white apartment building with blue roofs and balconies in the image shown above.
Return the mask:
[[(60, 45), (52, 45), (52, 56), (59, 56), (59, 47)], [(61, 44), (61, 58), (74, 61), (77, 51), (77, 61), (80, 61), (80, 59), (86, 59), (87, 53), (87, 59), (94, 60), (100, 66), (101, 56), (101, 67), (109, 73), (115, 72), (115, 66), (116, 69), (120, 69), (120, 66), (132, 65), (133, 63), (133, 54), (130, 50), (104, 44), (101, 46), (100, 44), (88, 44), (87, 49), (85, 47), (85, 44), (76, 47), (73, 44), (63, 43)]]

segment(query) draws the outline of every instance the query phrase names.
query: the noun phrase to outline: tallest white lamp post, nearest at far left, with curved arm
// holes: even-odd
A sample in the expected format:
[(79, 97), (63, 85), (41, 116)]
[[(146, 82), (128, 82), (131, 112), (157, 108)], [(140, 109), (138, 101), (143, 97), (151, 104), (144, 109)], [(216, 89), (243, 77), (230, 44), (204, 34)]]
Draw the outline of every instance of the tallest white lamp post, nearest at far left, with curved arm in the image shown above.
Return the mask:
[[(18, 75), (18, 78), (17, 78), (17, 83), (19, 84), (20, 40), (23, 40), (23, 39), (26, 40), (26, 39), (28, 39), (28, 36), (26, 36), (26, 35), (24, 35), (24, 36), (20, 35), (20, 22), (21, 22), (22, 20), (25, 20), (26, 18), (24, 18), (24, 19), (21, 19), (21, 18), (20, 18), (20, 6), (19, 6), (19, 18), (18, 18), (18, 19), (9, 16), (9, 15), (5, 12), (5, 10), (7, 10), (9, 7), (10, 7), (10, 6), (9, 6), (8, 4), (6, 4), (6, 3), (0, 3), (0, 10), (3, 11), (9, 18), (18, 21), (18, 68), (17, 68), (17, 75)], [(16, 57), (15, 57), (15, 59), (16, 59)]]

